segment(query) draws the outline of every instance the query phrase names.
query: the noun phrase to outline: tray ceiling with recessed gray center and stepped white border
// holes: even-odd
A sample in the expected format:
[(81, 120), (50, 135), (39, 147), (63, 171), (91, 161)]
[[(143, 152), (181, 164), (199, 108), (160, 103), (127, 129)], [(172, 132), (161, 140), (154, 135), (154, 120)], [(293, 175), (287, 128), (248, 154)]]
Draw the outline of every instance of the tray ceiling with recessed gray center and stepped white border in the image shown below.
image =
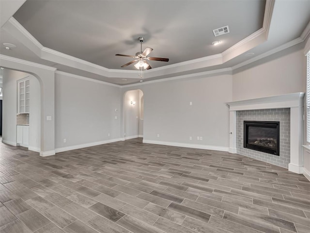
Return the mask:
[[(131, 58), (115, 54), (134, 55), (139, 36), (142, 50), (154, 49), (150, 56), (170, 59), (150, 61), (144, 81), (233, 67), (302, 42), (310, 0), (27, 0), (13, 17), (1, 27), (1, 54), (130, 84), (139, 82), (138, 71), (121, 68)], [(213, 35), (226, 25), (230, 33)], [(215, 40), (222, 43), (212, 46)], [(5, 50), (4, 42), (17, 48)]]

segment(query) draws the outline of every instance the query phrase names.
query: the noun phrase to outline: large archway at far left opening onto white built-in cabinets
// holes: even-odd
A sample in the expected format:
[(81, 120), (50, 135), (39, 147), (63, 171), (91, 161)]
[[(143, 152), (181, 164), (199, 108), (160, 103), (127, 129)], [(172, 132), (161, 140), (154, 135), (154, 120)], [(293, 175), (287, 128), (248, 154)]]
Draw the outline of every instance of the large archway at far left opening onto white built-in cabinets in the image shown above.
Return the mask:
[[(41, 151), (41, 87), (39, 80), (30, 73), (9, 68), (2, 69), (3, 80), (3, 131), (2, 141), (10, 145), (22, 145), (29, 150)], [(19, 83), (24, 93), (20, 94)], [(25, 92), (25, 89), (28, 91)], [(24, 96), (25, 100), (18, 97)], [(27, 96), (27, 98), (25, 97)], [(23, 101), (24, 111), (19, 103)], [(26, 109), (25, 109), (26, 108)]]

